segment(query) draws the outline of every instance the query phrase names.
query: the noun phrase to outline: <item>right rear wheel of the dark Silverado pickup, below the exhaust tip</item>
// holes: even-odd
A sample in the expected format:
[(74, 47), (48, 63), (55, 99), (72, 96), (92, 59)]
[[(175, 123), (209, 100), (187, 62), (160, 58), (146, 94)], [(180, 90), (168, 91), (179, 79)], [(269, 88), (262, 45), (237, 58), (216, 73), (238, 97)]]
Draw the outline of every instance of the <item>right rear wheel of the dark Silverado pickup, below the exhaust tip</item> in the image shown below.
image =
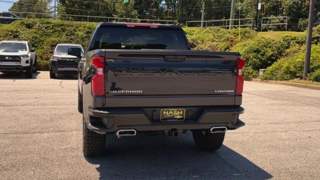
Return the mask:
[(221, 147), (225, 132), (210, 133), (209, 131), (194, 130), (192, 136), (195, 144), (202, 150), (216, 150)]

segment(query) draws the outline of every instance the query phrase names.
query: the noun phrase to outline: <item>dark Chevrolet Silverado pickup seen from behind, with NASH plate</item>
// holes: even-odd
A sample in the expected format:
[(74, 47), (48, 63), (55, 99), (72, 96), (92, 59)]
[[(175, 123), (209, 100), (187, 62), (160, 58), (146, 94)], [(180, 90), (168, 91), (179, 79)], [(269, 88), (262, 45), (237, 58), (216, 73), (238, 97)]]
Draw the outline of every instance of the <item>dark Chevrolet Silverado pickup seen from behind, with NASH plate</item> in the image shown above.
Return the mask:
[(204, 150), (244, 125), (244, 60), (238, 52), (191, 50), (180, 26), (101, 22), (80, 58), (78, 111), (83, 153), (103, 152), (105, 134), (178, 137), (191, 131)]

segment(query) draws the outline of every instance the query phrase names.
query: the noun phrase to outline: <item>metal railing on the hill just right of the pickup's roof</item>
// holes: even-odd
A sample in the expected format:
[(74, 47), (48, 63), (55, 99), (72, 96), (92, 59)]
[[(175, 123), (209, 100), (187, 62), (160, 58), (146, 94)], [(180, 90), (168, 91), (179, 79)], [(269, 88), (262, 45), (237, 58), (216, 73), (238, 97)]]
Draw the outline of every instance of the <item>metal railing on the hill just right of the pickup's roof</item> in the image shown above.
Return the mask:
[[(230, 25), (229, 22), (233, 21), (233, 25)], [(201, 20), (188, 20), (185, 22), (185, 25), (188, 26), (190, 23), (201, 23)], [(237, 19), (219, 19), (219, 20), (203, 20), (204, 27), (253, 27), (253, 18), (237, 18)], [(242, 22), (242, 24), (241, 24)]]

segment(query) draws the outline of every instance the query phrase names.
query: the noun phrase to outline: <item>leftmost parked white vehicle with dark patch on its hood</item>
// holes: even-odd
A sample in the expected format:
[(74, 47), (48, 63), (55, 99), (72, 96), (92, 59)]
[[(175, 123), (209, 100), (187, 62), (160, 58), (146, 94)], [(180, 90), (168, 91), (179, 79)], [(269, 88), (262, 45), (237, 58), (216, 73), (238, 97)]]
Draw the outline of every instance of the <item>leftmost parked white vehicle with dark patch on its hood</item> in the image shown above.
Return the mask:
[(0, 72), (6, 71), (25, 71), (26, 77), (32, 78), (36, 72), (36, 54), (28, 41), (0, 41)]

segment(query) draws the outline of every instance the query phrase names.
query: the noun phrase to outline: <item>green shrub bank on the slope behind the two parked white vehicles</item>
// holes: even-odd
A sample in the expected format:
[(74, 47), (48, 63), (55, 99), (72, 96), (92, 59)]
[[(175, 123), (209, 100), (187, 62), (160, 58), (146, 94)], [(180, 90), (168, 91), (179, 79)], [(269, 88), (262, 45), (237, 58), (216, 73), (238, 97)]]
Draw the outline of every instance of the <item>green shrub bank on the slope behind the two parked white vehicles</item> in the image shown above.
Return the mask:
[(23, 19), (0, 24), (0, 40), (28, 40), (36, 49), (38, 69), (48, 70), (48, 59), (57, 43), (86, 47), (96, 23), (49, 19)]

